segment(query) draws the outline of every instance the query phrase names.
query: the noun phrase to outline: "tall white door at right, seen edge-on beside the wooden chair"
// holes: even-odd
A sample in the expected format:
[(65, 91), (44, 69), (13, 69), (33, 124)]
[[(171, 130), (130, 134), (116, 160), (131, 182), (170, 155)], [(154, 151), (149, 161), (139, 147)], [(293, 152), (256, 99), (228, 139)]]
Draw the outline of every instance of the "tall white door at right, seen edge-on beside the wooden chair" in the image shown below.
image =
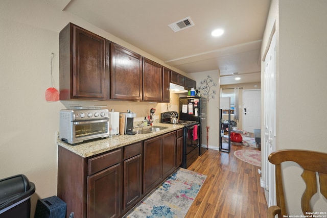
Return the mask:
[[(264, 71), (264, 140), (262, 148), (262, 180), (268, 207), (276, 204), (275, 166), (268, 161), (276, 151), (276, 37), (272, 37), (265, 57)], [(268, 192), (268, 195), (267, 195)]]

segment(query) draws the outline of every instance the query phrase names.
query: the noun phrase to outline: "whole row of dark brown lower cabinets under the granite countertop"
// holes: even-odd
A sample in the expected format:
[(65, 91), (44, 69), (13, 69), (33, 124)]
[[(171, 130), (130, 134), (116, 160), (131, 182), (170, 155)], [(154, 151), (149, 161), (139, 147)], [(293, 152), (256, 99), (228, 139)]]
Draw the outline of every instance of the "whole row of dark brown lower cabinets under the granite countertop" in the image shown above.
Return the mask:
[(59, 146), (57, 195), (66, 217), (123, 216), (181, 164), (182, 138), (177, 130), (88, 158)]

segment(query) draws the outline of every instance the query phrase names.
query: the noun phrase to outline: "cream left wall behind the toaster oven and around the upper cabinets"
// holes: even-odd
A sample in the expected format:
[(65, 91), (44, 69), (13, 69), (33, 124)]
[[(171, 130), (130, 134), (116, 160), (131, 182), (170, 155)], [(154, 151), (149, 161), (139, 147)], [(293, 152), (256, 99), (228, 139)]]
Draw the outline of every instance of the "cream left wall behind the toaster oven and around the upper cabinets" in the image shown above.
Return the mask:
[[(48, 103), (45, 90), (51, 86), (51, 53), (55, 54), (54, 86), (59, 89), (59, 32), (67, 23), (73, 22), (167, 66), (133, 45), (59, 8), (53, 8), (47, 2), (2, 0), (0, 7), (0, 179), (25, 174), (35, 183), (32, 216), (38, 198), (57, 194), (55, 133), (59, 130), (60, 109), (71, 102)], [(174, 104), (178, 102), (178, 97), (172, 95), (172, 109), (177, 108)], [(164, 103), (82, 101), (73, 104), (105, 104), (108, 109), (116, 111), (131, 109), (136, 110), (139, 117), (147, 115), (151, 107), (157, 109), (157, 115), (167, 108)]]

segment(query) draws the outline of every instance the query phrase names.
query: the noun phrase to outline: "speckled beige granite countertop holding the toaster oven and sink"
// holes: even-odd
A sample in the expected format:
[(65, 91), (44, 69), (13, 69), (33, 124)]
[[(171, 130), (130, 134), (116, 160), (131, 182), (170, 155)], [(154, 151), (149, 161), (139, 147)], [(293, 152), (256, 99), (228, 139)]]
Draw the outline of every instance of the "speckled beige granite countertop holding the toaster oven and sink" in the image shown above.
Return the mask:
[(135, 134), (135, 135), (119, 135), (112, 136), (100, 140), (94, 140), (90, 142), (80, 143), (76, 146), (72, 146), (72, 144), (65, 143), (61, 141), (58, 137), (57, 144), (69, 151), (74, 152), (75, 154), (81, 157), (90, 157), (93, 155), (101, 154), (103, 152), (107, 152), (113, 149), (121, 148), (127, 146), (128, 144), (132, 144), (138, 141), (142, 141), (148, 138), (152, 138), (154, 136), (158, 136), (161, 134), (165, 134), (171, 131), (175, 131), (178, 129), (182, 129), (183, 125), (178, 124), (161, 124), (157, 123), (155, 126), (168, 127), (167, 129), (163, 129), (160, 131), (148, 133), (148, 134)]

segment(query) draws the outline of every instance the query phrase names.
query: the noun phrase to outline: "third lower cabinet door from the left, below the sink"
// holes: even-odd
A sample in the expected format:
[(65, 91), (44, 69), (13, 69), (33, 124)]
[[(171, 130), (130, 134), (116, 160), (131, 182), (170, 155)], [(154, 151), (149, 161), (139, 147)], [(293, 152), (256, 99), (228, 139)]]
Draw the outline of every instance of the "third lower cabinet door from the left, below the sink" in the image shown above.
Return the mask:
[(162, 136), (144, 141), (143, 193), (146, 194), (162, 180)]

